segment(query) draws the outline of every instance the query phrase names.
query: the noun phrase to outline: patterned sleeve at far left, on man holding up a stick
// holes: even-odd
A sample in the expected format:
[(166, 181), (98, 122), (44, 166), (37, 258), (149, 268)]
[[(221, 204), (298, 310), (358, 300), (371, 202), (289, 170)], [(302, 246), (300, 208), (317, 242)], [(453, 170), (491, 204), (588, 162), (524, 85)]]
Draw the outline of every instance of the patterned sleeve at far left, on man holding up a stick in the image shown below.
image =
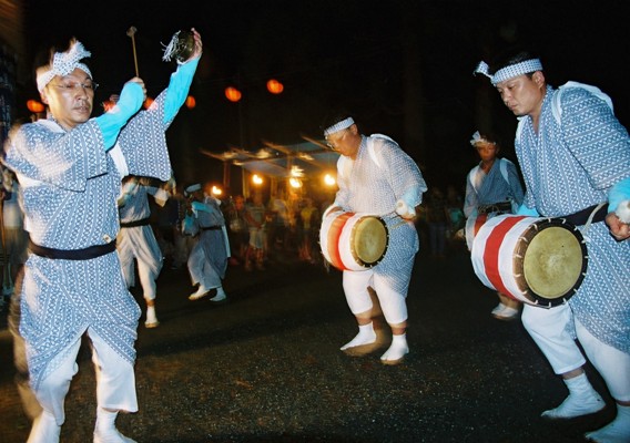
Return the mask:
[(13, 131), (4, 163), (16, 173), (61, 188), (82, 192), (89, 178), (104, 174), (108, 158), (94, 120), (70, 132), (55, 132), (45, 122)]

